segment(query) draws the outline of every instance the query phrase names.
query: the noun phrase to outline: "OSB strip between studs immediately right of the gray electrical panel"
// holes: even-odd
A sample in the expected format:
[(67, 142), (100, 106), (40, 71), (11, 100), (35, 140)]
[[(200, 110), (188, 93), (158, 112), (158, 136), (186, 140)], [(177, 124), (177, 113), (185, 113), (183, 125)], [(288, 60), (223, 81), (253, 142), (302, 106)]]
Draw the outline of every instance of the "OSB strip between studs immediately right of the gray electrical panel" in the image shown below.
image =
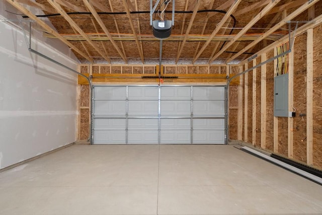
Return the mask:
[(294, 100), (296, 116), (293, 118), (293, 158), (306, 162), (306, 35), (302, 34), (294, 43)]

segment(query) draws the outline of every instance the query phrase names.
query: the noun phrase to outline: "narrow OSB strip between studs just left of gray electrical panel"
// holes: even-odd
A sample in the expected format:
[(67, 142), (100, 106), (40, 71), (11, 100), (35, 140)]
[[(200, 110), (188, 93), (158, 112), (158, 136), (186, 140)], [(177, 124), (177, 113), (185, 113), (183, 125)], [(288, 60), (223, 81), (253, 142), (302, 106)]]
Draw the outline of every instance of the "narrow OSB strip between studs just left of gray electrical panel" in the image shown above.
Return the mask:
[[(274, 56), (273, 49), (267, 59)], [(274, 150), (274, 62), (266, 64), (266, 149)]]

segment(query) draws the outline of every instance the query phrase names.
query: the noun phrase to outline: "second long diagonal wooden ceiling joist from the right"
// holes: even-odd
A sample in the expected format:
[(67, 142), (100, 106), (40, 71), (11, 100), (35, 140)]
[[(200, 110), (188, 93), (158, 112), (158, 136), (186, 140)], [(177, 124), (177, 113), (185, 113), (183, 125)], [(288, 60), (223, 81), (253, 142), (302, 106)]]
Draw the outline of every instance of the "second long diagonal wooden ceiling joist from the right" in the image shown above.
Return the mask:
[(260, 19), (262, 19), (266, 13), (268, 13), (274, 6), (276, 6), (281, 0), (275, 0), (268, 4), (254, 19), (252, 19), (243, 29), (241, 29), (238, 34), (229, 41), (220, 51), (215, 54), (210, 60), (211, 63), (214, 59), (216, 59), (220, 54), (222, 54), (227, 48), (229, 48), (235, 41), (237, 41), (241, 36), (243, 36), (254, 24), (256, 24)]

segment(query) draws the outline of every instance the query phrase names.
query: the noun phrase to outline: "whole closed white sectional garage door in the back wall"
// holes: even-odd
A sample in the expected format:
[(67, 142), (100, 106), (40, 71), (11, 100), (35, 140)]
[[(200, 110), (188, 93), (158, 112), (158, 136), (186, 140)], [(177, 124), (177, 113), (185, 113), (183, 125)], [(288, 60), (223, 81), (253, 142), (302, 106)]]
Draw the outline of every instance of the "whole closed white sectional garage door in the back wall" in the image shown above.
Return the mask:
[(224, 86), (94, 86), (92, 144), (225, 144)]

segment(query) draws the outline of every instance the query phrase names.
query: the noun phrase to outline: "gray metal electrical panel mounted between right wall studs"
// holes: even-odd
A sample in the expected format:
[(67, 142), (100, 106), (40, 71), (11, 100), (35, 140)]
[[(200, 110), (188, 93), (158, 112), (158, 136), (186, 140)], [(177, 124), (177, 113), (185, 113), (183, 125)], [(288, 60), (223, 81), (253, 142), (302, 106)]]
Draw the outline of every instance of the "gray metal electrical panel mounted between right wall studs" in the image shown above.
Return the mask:
[(288, 74), (274, 77), (274, 116), (288, 117)]

